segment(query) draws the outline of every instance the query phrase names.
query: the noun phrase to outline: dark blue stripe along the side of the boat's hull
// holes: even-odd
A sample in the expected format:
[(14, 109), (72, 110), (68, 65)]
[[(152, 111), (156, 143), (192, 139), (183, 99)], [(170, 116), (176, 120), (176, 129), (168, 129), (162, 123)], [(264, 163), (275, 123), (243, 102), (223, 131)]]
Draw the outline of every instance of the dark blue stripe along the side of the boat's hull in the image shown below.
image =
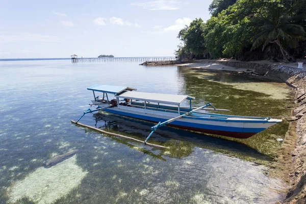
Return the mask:
[[(125, 113), (125, 112), (121, 112), (121, 111), (116, 111), (113, 109), (105, 109), (103, 111), (109, 112), (109, 113), (114, 113), (114, 114), (118, 114), (118, 115), (123, 115), (123, 116), (127, 116), (127, 117), (133, 117), (133, 118), (137, 118), (137, 119), (142, 119), (142, 120), (148, 120), (148, 121), (153, 121), (153, 122), (164, 122), (167, 119), (164, 118), (158, 118), (158, 117), (150, 117), (150, 116), (144, 116), (144, 115), (139, 115), (139, 114), (132, 114), (132, 113)], [(259, 133), (263, 130), (265, 130), (265, 128), (243, 128), (243, 127), (229, 127), (229, 126), (219, 126), (219, 125), (207, 125), (207, 124), (199, 124), (199, 123), (192, 123), (192, 122), (184, 122), (184, 121), (173, 121), (171, 122), (169, 125), (171, 126), (171, 124), (173, 126), (176, 127), (182, 127), (184, 129), (189, 129), (189, 130), (197, 130), (199, 132), (206, 132), (206, 133), (212, 133), (215, 134), (213, 132), (220, 132), (218, 135), (224, 135), (224, 136), (228, 136), (228, 135), (233, 135), (233, 134), (239, 134), (241, 135), (241, 133), (245, 133), (246, 135), (248, 135), (248, 137)], [(222, 134), (222, 132), (224, 132), (224, 134)], [(228, 134), (230, 133), (230, 134)], [(233, 137), (233, 136), (230, 136)], [(243, 138), (248, 138), (243, 137)], [(242, 138), (242, 137), (237, 137), (237, 138)]]

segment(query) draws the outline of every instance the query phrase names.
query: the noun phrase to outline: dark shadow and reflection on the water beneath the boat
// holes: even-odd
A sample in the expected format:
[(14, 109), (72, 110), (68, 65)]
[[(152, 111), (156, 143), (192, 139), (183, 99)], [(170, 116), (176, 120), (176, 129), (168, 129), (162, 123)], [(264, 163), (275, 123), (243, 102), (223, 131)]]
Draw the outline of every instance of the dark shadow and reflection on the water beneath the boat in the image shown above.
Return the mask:
[[(133, 118), (116, 116), (109, 113), (97, 113), (93, 116), (95, 117), (95, 126), (97, 128), (110, 132), (119, 132), (123, 135), (134, 137), (139, 140), (144, 140), (148, 136), (150, 133), (150, 127), (153, 124)], [(122, 140), (117, 139), (117, 141)], [(271, 157), (261, 154), (256, 149), (250, 148), (245, 144), (168, 126), (160, 127), (160, 129), (158, 129), (154, 135), (152, 135), (150, 142), (161, 143), (162, 145), (169, 147), (169, 149), (163, 150), (163, 152), (166, 151), (169, 157), (174, 158), (187, 157), (193, 152), (195, 147), (198, 147), (210, 149), (215, 152), (234, 156), (247, 161), (272, 160)], [(127, 142), (125, 142), (125, 144), (131, 145)], [(133, 148), (134, 145), (131, 147)]]

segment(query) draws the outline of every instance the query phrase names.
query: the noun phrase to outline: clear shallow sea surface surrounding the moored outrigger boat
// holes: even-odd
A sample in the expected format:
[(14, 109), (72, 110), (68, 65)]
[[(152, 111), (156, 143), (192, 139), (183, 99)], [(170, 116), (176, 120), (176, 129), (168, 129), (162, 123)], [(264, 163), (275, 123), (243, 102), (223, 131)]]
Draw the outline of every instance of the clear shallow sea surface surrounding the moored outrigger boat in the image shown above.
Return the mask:
[[(171, 127), (149, 142), (161, 150), (71, 124), (89, 108), (94, 84), (187, 94), (231, 114), (288, 116), (286, 84), (222, 71), (70, 60), (0, 62), (0, 203), (274, 203), (286, 183), (269, 175), (288, 123), (247, 140)], [(152, 123), (107, 113), (81, 121), (144, 140)], [(49, 158), (79, 149), (44, 168)]]

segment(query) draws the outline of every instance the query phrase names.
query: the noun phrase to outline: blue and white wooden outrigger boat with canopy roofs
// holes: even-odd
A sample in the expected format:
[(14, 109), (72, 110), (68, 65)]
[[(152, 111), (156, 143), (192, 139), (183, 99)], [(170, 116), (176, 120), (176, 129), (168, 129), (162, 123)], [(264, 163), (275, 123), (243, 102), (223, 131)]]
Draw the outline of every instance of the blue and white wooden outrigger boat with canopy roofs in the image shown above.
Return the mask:
[[(158, 123), (151, 127), (151, 133), (144, 143), (158, 127), (163, 125), (246, 139), (276, 123), (282, 122), (281, 119), (272, 119), (270, 117), (210, 113), (208, 111), (229, 110), (216, 109), (210, 103), (199, 108), (193, 108), (192, 100), (195, 98), (188, 95), (138, 92), (136, 91), (137, 89), (131, 87), (109, 85), (93, 85), (87, 89), (92, 91), (94, 96), (90, 106), (97, 106), (97, 108), (94, 110), (89, 108), (79, 120), (87, 113), (105, 111)], [(100, 98), (96, 96), (97, 93), (103, 93), (103, 96)], [(110, 99), (109, 94), (113, 95), (112, 99)], [(180, 105), (186, 100), (189, 101), (189, 107), (181, 107)]]

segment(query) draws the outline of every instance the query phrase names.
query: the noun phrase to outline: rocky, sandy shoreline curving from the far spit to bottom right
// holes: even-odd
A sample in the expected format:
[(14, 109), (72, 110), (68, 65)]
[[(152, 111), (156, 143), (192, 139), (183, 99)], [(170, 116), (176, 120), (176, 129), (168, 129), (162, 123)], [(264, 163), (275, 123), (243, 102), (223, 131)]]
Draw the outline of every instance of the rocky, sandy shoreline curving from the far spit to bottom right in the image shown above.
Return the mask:
[[(296, 120), (295, 132), (297, 138), (295, 148), (292, 152), (284, 151), (283, 160), (287, 157), (292, 166), (290, 169), (290, 188), (283, 203), (306, 203), (306, 68), (295, 68), (290, 64), (271, 62), (241, 62), (237, 60), (197, 60), (179, 63), (177, 61), (152, 61), (140, 65), (161, 66), (176, 65), (198, 67), (206, 69), (220, 69), (227, 71), (253, 72), (267, 77), (278, 78), (296, 90), (296, 108), (293, 111), (293, 120)], [(211, 67), (210, 64), (219, 65)], [(227, 66), (230, 68), (223, 67)], [(235, 67), (235, 68), (234, 68)], [(292, 128), (294, 129), (294, 128)], [(288, 130), (290, 131), (290, 130)], [(289, 134), (290, 136), (290, 134)], [(286, 141), (285, 141), (286, 143)], [(284, 144), (285, 145), (285, 144)], [(289, 158), (289, 159), (288, 159)], [(290, 161), (291, 160), (291, 161)]]

